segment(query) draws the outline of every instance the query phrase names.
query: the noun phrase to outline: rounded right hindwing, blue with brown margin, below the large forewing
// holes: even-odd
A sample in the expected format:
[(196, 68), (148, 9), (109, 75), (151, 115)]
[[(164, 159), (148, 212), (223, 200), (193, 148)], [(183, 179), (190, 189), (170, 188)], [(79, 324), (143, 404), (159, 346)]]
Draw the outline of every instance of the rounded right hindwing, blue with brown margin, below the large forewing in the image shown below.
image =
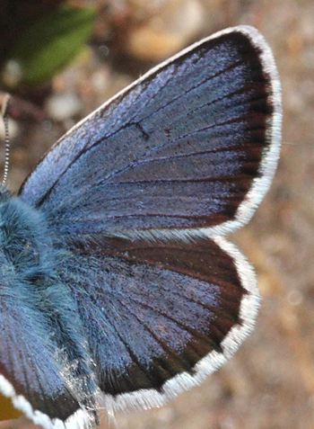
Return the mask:
[(255, 276), (222, 237), (186, 243), (107, 238), (101, 255), (71, 247), (62, 281), (77, 299), (100, 389), (115, 398), (110, 407), (161, 404), (171, 389), (187, 389), (230, 357), (235, 330), (242, 341), (252, 329)]

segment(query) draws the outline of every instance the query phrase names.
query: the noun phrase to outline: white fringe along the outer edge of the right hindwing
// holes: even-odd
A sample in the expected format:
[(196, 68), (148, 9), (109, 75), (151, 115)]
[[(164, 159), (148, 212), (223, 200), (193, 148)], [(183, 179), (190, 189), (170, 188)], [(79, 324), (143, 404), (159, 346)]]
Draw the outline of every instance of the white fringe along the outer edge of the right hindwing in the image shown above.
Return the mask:
[(238, 350), (240, 344), (251, 333), (255, 325), (259, 308), (260, 294), (253, 267), (239, 249), (224, 237), (212, 237), (214, 243), (231, 256), (238, 271), (240, 282), (246, 294), (240, 302), (240, 323), (231, 327), (231, 331), (222, 340), (222, 352), (213, 351), (196, 363), (192, 372), (182, 372), (166, 381), (160, 390), (141, 389), (132, 393), (119, 394), (116, 397), (103, 395), (100, 403), (113, 415), (118, 410), (127, 408), (160, 407), (175, 398), (180, 392), (199, 385), (205, 378), (216, 371)]

